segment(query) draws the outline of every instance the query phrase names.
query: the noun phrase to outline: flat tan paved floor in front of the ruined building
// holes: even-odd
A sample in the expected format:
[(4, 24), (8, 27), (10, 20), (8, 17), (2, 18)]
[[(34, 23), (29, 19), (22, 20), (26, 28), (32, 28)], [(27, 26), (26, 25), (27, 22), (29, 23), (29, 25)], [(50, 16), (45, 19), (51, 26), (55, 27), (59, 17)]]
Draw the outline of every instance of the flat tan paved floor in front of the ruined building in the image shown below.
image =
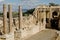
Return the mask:
[(57, 36), (55, 30), (42, 30), (26, 40), (56, 40)]

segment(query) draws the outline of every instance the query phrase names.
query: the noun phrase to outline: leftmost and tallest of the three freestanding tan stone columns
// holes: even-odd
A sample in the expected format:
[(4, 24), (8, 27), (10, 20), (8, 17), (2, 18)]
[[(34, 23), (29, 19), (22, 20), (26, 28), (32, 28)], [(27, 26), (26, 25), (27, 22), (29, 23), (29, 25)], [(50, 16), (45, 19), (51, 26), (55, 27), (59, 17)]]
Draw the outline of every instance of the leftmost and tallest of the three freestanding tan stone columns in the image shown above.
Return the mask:
[(3, 32), (7, 33), (7, 7), (3, 4)]

